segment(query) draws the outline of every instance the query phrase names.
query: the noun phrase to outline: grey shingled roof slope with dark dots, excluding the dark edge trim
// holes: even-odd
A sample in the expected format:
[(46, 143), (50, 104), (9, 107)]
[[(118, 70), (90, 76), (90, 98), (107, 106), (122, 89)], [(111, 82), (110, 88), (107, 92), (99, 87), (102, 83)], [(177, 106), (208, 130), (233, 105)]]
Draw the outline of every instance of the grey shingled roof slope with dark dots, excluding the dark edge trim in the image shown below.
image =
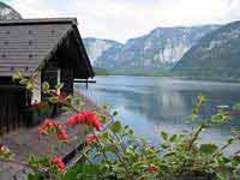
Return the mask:
[[(37, 68), (70, 27), (69, 24), (1, 26), (0, 23), (0, 76), (11, 76), (12, 68), (15, 71)], [(51, 33), (52, 30), (55, 33)], [(31, 71), (25, 73), (29, 75)]]

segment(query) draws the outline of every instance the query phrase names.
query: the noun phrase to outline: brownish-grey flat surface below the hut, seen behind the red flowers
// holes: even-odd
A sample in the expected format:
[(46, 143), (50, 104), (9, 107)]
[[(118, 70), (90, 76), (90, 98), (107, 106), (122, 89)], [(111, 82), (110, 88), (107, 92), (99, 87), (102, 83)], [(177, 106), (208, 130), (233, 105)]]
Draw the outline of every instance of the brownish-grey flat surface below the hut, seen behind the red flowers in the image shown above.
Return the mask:
[[(78, 94), (80, 95), (80, 94)], [(98, 112), (102, 111), (100, 108), (96, 107), (93, 102), (89, 99), (81, 96), (85, 104), (84, 110), (96, 110)], [(69, 117), (71, 113), (62, 114), (56, 117), (59, 121), (64, 121)], [(71, 153), (76, 147), (78, 147), (84, 139), (84, 127), (76, 127), (69, 131), (71, 137), (70, 141), (62, 148), (56, 149), (54, 152), (50, 148), (51, 146), (57, 146), (56, 139), (53, 137), (43, 137), (39, 139), (37, 134), (37, 127), (34, 128), (21, 128), (13, 132), (10, 132), (0, 138), (0, 143), (5, 144), (11, 151), (16, 154), (15, 159), (17, 161), (26, 161), (29, 155), (59, 155), (61, 157), (66, 157)], [(17, 179), (22, 178), (22, 170), (24, 167), (19, 165), (13, 165), (9, 163), (0, 162), (0, 167), (3, 170), (0, 171), (0, 179), (10, 179), (16, 174)], [(19, 173), (21, 172), (21, 173)]]

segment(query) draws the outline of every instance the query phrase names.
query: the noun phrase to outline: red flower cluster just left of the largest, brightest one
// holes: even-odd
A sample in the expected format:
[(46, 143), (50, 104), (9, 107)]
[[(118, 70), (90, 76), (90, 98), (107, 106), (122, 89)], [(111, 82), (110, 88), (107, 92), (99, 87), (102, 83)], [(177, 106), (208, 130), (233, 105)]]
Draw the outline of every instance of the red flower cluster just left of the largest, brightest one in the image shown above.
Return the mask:
[(56, 133), (57, 138), (61, 141), (66, 142), (68, 140), (68, 134), (63, 124), (53, 119), (46, 119), (38, 128), (38, 133), (39, 135), (48, 135), (51, 132)]

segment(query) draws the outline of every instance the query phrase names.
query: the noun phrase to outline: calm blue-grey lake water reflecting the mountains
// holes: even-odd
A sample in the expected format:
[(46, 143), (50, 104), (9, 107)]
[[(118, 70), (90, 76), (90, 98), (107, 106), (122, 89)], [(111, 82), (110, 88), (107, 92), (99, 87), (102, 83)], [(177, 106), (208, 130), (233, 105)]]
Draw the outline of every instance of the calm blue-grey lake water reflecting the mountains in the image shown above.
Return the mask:
[[(162, 77), (101, 76), (97, 84), (81, 91), (97, 104), (108, 104), (119, 112), (124, 124), (136, 130), (139, 136), (152, 144), (159, 142), (160, 131), (170, 133), (190, 130), (194, 124), (186, 123), (198, 94), (207, 98), (201, 115), (208, 117), (216, 112), (217, 105), (240, 102), (240, 84), (187, 81)], [(223, 143), (231, 129), (240, 127), (240, 117), (219, 127), (207, 130), (202, 141)], [(239, 145), (232, 147), (235, 151)], [(240, 149), (240, 148), (239, 148)]]

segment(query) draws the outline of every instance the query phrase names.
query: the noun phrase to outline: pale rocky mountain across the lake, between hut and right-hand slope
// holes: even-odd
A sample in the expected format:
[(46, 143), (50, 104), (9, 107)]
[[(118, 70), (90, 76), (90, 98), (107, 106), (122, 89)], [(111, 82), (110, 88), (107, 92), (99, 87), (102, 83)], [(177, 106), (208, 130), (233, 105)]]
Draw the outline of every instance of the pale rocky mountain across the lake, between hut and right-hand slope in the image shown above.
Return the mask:
[(95, 38), (84, 42), (96, 67), (115, 72), (158, 71), (172, 68), (200, 38), (218, 27), (160, 27), (125, 44)]

